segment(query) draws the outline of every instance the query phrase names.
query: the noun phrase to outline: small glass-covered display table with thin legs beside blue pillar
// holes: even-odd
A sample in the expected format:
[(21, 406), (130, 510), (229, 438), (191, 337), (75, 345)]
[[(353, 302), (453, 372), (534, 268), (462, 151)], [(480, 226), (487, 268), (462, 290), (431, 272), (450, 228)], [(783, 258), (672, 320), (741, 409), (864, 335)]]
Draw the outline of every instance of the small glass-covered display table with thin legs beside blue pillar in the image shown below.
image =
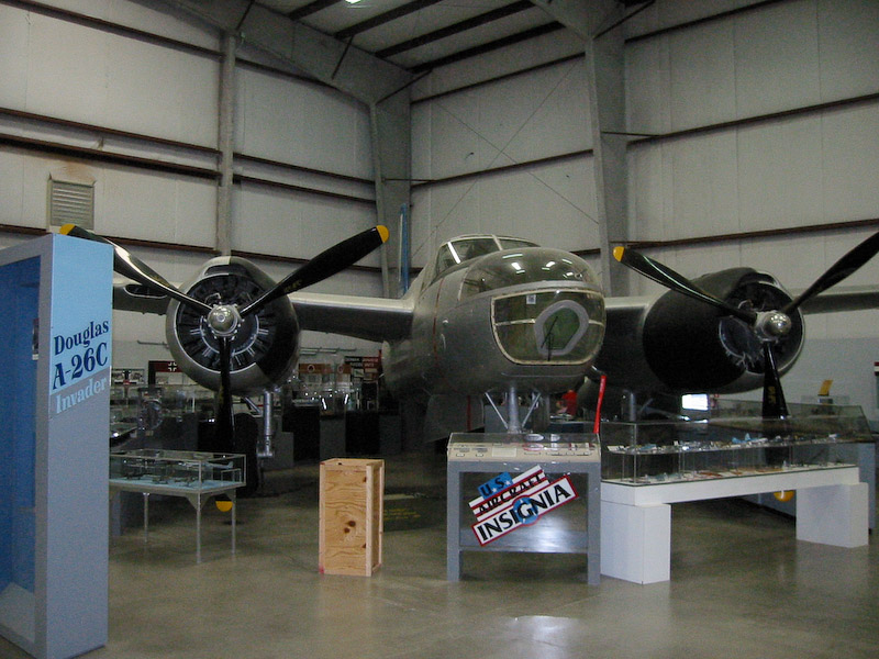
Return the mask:
[(201, 562), (201, 510), (214, 496), (232, 505), (232, 554), (236, 541), (235, 490), (246, 485), (245, 456), (166, 449), (110, 454), (110, 496), (137, 492), (144, 498), (144, 543), (149, 539), (149, 495), (182, 496), (196, 509), (196, 562)]

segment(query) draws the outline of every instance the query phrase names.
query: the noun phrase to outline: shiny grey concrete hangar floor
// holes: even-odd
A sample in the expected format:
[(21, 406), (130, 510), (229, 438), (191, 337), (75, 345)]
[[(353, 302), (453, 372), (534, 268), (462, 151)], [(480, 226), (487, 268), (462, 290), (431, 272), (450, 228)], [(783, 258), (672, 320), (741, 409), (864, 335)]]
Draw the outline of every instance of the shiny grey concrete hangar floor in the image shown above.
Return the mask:
[[(792, 520), (738, 500), (672, 509), (671, 581), (586, 583), (585, 557), (465, 555), (445, 579), (445, 465), (386, 462), (386, 492), (416, 489), (415, 528), (386, 530), (371, 578), (318, 573), (318, 471), (242, 500), (238, 551), (205, 506), (152, 504), (151, 539), (110, 544), (110, 639), (87, 659), (879, 656), (879, 547), (798, 543)], [(26, 657), (0, 639), (0, 657)]]

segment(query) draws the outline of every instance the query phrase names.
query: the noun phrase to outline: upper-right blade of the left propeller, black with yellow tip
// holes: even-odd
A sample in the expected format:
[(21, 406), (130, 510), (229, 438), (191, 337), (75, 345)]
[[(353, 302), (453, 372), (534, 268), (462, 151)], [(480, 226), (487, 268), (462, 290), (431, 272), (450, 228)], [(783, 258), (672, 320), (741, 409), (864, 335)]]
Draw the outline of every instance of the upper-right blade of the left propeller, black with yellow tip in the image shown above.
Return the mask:
[(241, 315), (245, 316), (248, 313), (255, 313), (281, 295), (288, 295), (307, 286), (318, 283), (336, 272), (341, 272), (387, 242), (388, 235), (388, 228), (379, 225), (342, 241), (312, 258), (301, 268), (290, 272), (275, 287), (244, 306), (241, 310)]

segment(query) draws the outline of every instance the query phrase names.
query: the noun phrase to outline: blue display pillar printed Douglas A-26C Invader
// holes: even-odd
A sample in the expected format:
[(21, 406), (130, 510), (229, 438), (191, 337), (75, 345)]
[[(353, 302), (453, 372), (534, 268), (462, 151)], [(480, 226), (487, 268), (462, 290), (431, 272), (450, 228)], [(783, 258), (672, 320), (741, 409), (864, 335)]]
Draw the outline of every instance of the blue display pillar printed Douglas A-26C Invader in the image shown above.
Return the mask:
[(0, 252), (0, 635), (38, 659), (107, 643), (112, 249)]

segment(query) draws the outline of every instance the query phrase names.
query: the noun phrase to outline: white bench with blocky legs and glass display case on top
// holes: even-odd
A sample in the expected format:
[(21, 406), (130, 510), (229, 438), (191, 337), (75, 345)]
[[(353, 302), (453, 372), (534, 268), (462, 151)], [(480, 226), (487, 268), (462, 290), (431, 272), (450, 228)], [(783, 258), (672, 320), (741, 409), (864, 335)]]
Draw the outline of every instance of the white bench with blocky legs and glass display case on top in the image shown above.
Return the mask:
[(841, 446), (863, 440), (860, 415), (605, 423), (601, 573), (668, 581), (671, 504), (795, 492), (797, 539), (868, 543), (869, 487)]

